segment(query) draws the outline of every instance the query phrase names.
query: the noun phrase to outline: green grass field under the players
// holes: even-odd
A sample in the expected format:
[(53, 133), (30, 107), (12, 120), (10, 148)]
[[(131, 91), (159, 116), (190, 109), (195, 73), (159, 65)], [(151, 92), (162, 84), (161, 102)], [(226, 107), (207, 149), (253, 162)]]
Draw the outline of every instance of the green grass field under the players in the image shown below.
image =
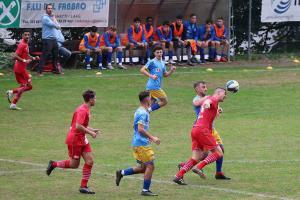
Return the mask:
[[(188, 173), (188, 186), (173, 184), (177, 163), (191, 154), (193, 82), (205, 80), (214, 88), (229, 79), (238, 80), (241, 89), (228, 95), (215, 126), (225, 143), (224, 171), (232, 180), (215, 180), (212, 164), (205, 168), (208, 179)], [(23, 109), (11, 111), (4, 94), (17, 85), (12, 74), (0, 77), (0, 199), (141, 199), (141, 175), (125, 177), (116, 187), (114, 173), (135, 164), (132, 120), (145, 83), (138, 69), (105, 71), (101, 77), (82, 70), (34, 77), (33, 90), (19, 103)], [(49, 159), (67, 158), (65, 136), (88, 88), (97, 92), (90, 125), (103, 132), (89, 138), (95, 155), (90, 187), (96, 191), (89, 197), (78, 192), (80, 170), (45, 174)], [(161, 138), (160, 146), (152, 145), (155, 199), (300, 199), (299, 67), (181, 68), (163, 88), (169, 104), (151, 114), (150, 125)]]

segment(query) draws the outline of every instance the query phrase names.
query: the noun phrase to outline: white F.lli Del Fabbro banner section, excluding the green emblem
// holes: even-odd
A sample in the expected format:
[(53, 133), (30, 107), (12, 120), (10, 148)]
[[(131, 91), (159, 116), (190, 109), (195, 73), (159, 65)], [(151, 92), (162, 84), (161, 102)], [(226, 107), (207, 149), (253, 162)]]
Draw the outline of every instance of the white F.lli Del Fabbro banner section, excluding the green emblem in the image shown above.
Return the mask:
[(53, 13), (61, 27), (108, 26), (109, 0), (22, 0), (20, 27), (42, 27), (47, 3), (53, 5)]

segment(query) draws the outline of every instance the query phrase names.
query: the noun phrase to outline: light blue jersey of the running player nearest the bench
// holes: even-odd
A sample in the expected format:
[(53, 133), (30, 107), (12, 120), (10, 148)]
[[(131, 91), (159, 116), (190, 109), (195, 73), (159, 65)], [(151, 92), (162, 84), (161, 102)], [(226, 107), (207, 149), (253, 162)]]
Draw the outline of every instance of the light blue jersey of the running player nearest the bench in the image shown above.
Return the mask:
[(156, 80), (149, 78), (146, 85), (146, 90), (161, 89), (163, 75), (166, 72), (165, 62), (163, 60), (158, 60), (154, 58), (147, 62), (146, 68), (148, 69), (150, 74), (157, 76)]

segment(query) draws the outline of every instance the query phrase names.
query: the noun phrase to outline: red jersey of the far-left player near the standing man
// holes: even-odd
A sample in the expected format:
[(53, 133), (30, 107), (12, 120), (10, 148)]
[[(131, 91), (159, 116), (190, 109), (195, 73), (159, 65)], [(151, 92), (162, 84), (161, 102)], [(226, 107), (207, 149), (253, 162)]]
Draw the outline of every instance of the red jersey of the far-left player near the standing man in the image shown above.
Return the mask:
[[(17, 47), (17, 50), (15, 52), (19, 57), (22, 59), (28, 59), (29, 57), (29, 47), (28, 43), (25, 42), (25, 40), (21, 40), (20, 44)], [(14, 71), (15, 72), (24, 72), (26, 70), (27, 63), (24, 63), (22, 61), (16, 60), (14, 65)]]

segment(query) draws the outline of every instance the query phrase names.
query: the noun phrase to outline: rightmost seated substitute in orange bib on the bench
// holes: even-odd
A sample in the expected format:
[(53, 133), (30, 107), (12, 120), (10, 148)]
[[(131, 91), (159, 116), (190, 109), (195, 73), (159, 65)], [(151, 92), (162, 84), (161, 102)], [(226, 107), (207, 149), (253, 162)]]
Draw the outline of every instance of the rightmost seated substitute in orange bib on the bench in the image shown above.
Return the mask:
[[(215, 38), (214, 38), (214, 41), (215, 41), (215, 52), (214, 53), (214, 56), (215, 56), (215, 61), (216, 62), (227, 62), (228, 61), (228, 58), (227, 58), (227, 52), (228, 52), (228, 49), (229, 49), (229, 41), (228, 41), (228, 31), (227, 31), (227, 28), (224, 26), (224, 20), (222, 17), (219, 17), (217, 19), (217, 23), (215, 23), (213, 25), (214, 27), (214, 31), (215, 31)], [(218, 49), (220, 49), (220, 47), (223, 47), (221, 49), (221, 53), (220, 52), (217, 52), (219, 51)], [(217, 55), (220, 55), (221, 56), (221, 59), (219, 60), (217, 58)]]

